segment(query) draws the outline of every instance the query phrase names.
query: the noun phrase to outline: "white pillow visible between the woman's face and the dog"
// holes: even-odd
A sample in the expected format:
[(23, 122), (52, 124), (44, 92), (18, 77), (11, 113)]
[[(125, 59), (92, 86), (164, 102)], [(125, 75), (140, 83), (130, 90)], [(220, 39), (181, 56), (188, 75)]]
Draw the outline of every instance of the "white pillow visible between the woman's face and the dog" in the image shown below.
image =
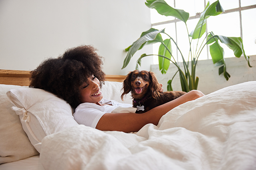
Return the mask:
[(105, 81), (105, 84), (102, 86), (101, 92), (103, 94), (104, 99), (115, 100), (119, 103), (128, 103), (133, 104), (131, 99), (131, 92), (124, 96), (124, 101), (121, 100), (121, 89), (123, 83), (122, 82), (109, 82)]

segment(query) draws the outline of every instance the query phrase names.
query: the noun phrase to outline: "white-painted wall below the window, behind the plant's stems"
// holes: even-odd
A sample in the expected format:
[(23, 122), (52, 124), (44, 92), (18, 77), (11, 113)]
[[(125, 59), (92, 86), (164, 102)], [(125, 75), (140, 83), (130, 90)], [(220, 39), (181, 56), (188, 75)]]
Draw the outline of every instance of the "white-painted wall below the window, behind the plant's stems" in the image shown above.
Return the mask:
[[(202, 91), (204, 94), (210, 94), (221, 88), (232, 86), (235, 84), (256, 81), (256, 56), (250, 56), (251, 68), (248, 66), (244, 57), (226, 58), (227, 72), (230, 74), (228, 81), (224, 78), (223, 74), (218, 75), (218, 68), (212, 63), (212, 60), (198, 61), (196, 66), (196, 76), (199, 78), (197, 90)], [(181, 63), (181, 69), (183, 64)], [(174, 64), (170, 64), (167, 73), (162, 74), (159, 71), (158, 65), (152, 65), (151, 71), (157, 74), (157, 79), (163, 84), (164, 90), (167, 90), (167, 82), (173, 78), (173, 75), (177, 71), (177, 67)], [(179, 75), (177, 74), (172, 83), (174, 91), (181, 90), (181, 82)]]

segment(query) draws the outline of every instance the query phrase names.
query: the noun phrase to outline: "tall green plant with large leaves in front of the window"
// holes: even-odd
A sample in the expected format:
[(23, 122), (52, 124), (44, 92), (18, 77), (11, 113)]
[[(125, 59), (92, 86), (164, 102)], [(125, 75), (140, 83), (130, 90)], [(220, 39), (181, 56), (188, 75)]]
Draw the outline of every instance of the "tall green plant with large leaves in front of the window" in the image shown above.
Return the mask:
[[(157, 10), (157, 12), (161, 15), (173, 16), (183, 21), (187, 28), (186, 22), (189, 19), (189, 13), (185, 12), (184, 10), (172, 8), (164, 0), (147, 0), (145, 4), (149, 8), (153, 8)], [(135, 41), (131, 46), (125, 49), (125, 51), (128, 51), (128, 53), (124, 60), (123, 68), (127, 66), (129, 61), (131, 60), (131, 57), (133, 57), (136, 51), (143, 48), (144, 45), (160, 42), (161, 45), (158, 51), (159, 69), (161, 70), (162, 74), (165, 74), (167, 72), (167, 69), (169, 68), (170, 61), (171, 61), (178, 68), (175, 75), (179, 72), (182, 90), (185, 92), (189, 92), (190, 90), (197, 89), (199, 78), (195, 75), (196, 63), (198, 61), (198, 57), (200, 56), (200, 53), (202, 52), (202, 49), (206, 46), (206, 44), (209, 44), (212, 61), (215, 66), (220, 66), (219, 75), (223, 73), (226, 80), (228, 80), (228, 78), (230, 77), (230, 74), (228, 74), (228, 72), (226, 71), (224, 50), (220, 46), (220, 42), (227, 45), (230, 49), (232, 49), (236, 57), (240, 57), (242, 54), (244, 54), (244, 57), (247, 60), (248, 65), (250, 66), (249, 57), (246, 56), (244, 53), (242, 39), (240, 37), (225, 37), (221, 35), (214, 35), (214, 33), (210, 32), (210, 33), (207, 33), (207, 35), (204, 37), (200, 47), (198, 46), (199, 39), (203, 38), (202, 35), (206, 31), (207, 18), (209, 18), (210, 16), (217, 16), (222, 12), (224, 12), (224, 10), (222, 9), (222, 6), (220, 5), (220, 2), (218, 0), (212, 3), (211, 5), (210, 5), (210, 2), (208, 2), (206, 8), (200, 14), (200, 19), (196, 27), (194, 28), (194, 30), (191, 31), (190, 34), (187, 28), (187, 34), (189, 37), (189, 44), (190, 44), (189, 56), (188, 56), (189, 60), (187, 62), (185, 61), (184, 56), (181, 50), (179, 49), (177, 43), (174, 41), (174, 39), (170, 37), (167, 33), (165, 33), (165, 29), (158, 30), (158, 29), (151, 28), (148, 31), (143, 32), (141, 34), (141, 37), (137, 39), (137, 41)], [(161, 34), (166, 34), (169, 38), (163, 40)], [(179, 63), (175, 61), (175, 58), (172, 55), (171, 41), (175, 43), (175, 46), (179, 50), (179, 53), (181, 53), (181, 57), (183, 59), (183, 65), (184, 65), (184, 72), (183, 70), (181, 70)], [(196, 50), (194, 53), (192, 53), (192, 50), (191, 50), (192, 41), (197, 41)], [(146, 55), (146, 54), (141, 55), (141, 57), (137, 60), (136, 69), (138, 69), (138, 66), (141, 65), (141, 59), (147, 56), (150, 56), (150, 55)], [(191, 67), (190, 67), (191, 70), (189, 70), (189, 62), (191, 62)], [(173, 78), (175, 77), (175, 75), (173, 76)], [(169, 80), (167, 90), (173, 90), (171, 86), (171, 82), (173, 78)]]

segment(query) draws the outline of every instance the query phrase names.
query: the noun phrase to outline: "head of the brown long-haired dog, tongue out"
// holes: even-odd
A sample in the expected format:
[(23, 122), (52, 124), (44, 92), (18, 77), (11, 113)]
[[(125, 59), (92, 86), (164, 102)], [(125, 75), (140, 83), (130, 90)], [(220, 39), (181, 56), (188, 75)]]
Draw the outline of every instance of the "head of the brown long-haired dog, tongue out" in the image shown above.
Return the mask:
[(161, 86), (153, 72), (134, 70), (130, 72), (123, 81), (123, 96), (131, 92), (133, 98), (141, 99), (146, 94), (157, 98)]

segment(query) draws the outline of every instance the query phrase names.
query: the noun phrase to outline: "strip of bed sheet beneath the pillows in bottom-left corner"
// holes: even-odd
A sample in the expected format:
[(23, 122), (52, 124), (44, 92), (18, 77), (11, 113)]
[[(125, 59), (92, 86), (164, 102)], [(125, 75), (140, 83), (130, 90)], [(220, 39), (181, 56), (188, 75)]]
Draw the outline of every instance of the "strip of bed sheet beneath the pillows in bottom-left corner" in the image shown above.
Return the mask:
[(15, 162), (0, 164), (0, 170), (44, 170), (39, 154)]

